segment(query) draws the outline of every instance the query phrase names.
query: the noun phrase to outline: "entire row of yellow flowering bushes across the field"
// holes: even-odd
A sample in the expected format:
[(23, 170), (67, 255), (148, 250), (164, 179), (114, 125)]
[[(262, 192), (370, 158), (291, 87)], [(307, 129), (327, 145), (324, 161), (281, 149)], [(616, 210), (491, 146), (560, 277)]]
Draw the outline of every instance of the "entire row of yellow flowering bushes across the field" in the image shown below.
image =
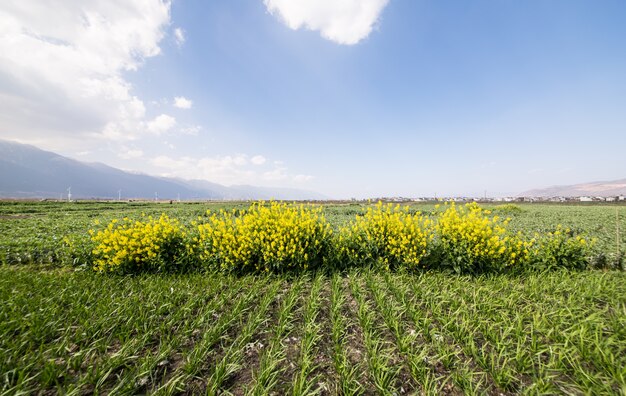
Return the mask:
[(477, 204), (454, 203), (430, 215), (378, 203), (333, 232), (321, 207), (260, 202), (207, 212), (184, 227), (176, 219), (127, 218), (90, 230), (100, 272), (288, 272), (374, 266), (485, 273), (584, 268), (591, 242), (560, 227), (528, 239), (509, 219)]

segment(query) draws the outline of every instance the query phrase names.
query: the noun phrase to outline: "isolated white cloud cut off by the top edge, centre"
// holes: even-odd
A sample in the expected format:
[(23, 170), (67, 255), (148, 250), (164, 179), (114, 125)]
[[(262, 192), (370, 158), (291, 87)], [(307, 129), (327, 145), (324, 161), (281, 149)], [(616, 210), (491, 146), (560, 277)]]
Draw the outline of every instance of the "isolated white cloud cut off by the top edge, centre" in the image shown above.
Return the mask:
[(389, 0), (263, 0), (293, 30), (317, 30), (322, 37), (352, 45), (366, 38)]

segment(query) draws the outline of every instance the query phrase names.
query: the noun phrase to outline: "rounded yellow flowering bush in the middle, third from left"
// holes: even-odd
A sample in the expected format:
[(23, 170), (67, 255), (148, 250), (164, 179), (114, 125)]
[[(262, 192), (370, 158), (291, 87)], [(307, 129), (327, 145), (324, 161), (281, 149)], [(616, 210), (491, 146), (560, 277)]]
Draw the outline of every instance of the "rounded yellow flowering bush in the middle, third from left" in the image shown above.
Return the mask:
[(373, 264), (385, 270), (397, 265), (415, 268), (423, 266), (432, 239), (432, 221), (421, 213), (378, 202), (341, 228), (338, 262), (345, 267)]

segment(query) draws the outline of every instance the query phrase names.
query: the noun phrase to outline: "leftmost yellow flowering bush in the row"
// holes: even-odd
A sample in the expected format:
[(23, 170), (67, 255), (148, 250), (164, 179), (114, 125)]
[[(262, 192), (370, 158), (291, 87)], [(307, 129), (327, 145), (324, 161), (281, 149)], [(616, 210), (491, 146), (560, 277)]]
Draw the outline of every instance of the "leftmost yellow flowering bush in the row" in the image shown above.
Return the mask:
[(191, 253), (178, 220), (165, 214), (158, 219), (113, 219), (105, 229), (90, 234), (95, 245), (93, 268), (99, 272), (181, 270)]

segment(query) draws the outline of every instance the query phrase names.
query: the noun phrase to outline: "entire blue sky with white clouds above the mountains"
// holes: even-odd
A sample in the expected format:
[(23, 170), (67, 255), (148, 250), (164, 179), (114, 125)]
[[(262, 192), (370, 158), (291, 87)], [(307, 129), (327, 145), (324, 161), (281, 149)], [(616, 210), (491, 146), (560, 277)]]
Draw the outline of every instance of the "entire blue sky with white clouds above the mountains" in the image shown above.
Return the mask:
[(4, 0), (0, 139), (333, 198), (626, 178), (623, 0)]

